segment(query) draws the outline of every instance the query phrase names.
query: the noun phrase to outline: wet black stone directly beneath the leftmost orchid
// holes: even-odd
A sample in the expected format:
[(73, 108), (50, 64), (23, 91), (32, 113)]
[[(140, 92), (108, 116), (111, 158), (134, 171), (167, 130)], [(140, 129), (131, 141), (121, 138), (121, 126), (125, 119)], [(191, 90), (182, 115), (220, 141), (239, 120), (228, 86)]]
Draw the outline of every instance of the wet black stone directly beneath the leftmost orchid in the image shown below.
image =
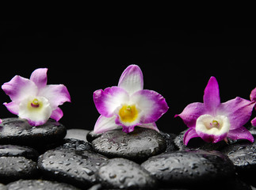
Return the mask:
[(0, 143), (32, 147), (45, 146), (59, 142), (66, 133), (66, 127), (52, 119), (44, 125), (32, 127), (27, 120), (6, 118), (2, 119), (2, 124), (0, 124)]

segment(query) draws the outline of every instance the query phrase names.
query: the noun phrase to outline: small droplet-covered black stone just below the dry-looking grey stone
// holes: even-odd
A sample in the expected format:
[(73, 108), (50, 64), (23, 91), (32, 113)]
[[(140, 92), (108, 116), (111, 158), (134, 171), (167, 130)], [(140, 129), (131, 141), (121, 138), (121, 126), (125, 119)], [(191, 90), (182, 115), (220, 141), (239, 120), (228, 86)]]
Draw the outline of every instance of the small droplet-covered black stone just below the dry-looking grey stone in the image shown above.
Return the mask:
[(88, 142), (78, 139), (63, 139), (63, 145), (57, 147), (57, 149), (69, 149), (69, 150), (92, 150), (92, 147)]

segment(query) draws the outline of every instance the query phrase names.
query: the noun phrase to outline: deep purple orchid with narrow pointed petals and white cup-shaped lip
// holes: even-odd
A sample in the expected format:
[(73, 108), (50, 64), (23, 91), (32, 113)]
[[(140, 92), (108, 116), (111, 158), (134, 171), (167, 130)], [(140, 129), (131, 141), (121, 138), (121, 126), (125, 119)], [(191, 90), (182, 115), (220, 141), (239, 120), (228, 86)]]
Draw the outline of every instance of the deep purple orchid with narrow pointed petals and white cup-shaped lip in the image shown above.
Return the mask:
[(250, 120), (254, 105), (255, 102), (241, 97), (220, 103), (218, 82), (216, 78), (210, 78), (204, 89), (204, 103), (189, 104), (181, 114), (176, 115), (189, 127), (184, 135), (184, 144), (196, 137), (213, 143), (227, 141), (227, 138), (254, 142), (254, 137), (243, 127)]

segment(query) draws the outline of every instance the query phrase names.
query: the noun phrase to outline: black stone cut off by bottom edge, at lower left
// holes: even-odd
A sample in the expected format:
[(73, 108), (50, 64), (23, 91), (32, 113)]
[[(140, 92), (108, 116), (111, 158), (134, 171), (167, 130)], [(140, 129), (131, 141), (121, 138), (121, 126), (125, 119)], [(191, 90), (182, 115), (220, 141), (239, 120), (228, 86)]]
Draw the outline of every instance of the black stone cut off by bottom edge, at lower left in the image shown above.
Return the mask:
[(64, 184), (50, 180), (17, 180), (10, 184), (7, 184), (6, 187), (8, 189), (18, 190), (78, 190), (78, 188), (75, 188), (71, 184)]

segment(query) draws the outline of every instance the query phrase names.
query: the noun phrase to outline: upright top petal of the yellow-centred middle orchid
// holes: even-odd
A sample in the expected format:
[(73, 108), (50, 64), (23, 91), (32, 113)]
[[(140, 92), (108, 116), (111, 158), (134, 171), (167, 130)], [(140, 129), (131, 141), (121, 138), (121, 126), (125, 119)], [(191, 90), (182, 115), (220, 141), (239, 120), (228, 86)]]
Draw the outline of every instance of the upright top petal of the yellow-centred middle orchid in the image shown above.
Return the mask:
[(136, 65), (127, 67), (120, 76), (118, 86), (125, 89), (129, 94), (143, 89), (143, 74)]

